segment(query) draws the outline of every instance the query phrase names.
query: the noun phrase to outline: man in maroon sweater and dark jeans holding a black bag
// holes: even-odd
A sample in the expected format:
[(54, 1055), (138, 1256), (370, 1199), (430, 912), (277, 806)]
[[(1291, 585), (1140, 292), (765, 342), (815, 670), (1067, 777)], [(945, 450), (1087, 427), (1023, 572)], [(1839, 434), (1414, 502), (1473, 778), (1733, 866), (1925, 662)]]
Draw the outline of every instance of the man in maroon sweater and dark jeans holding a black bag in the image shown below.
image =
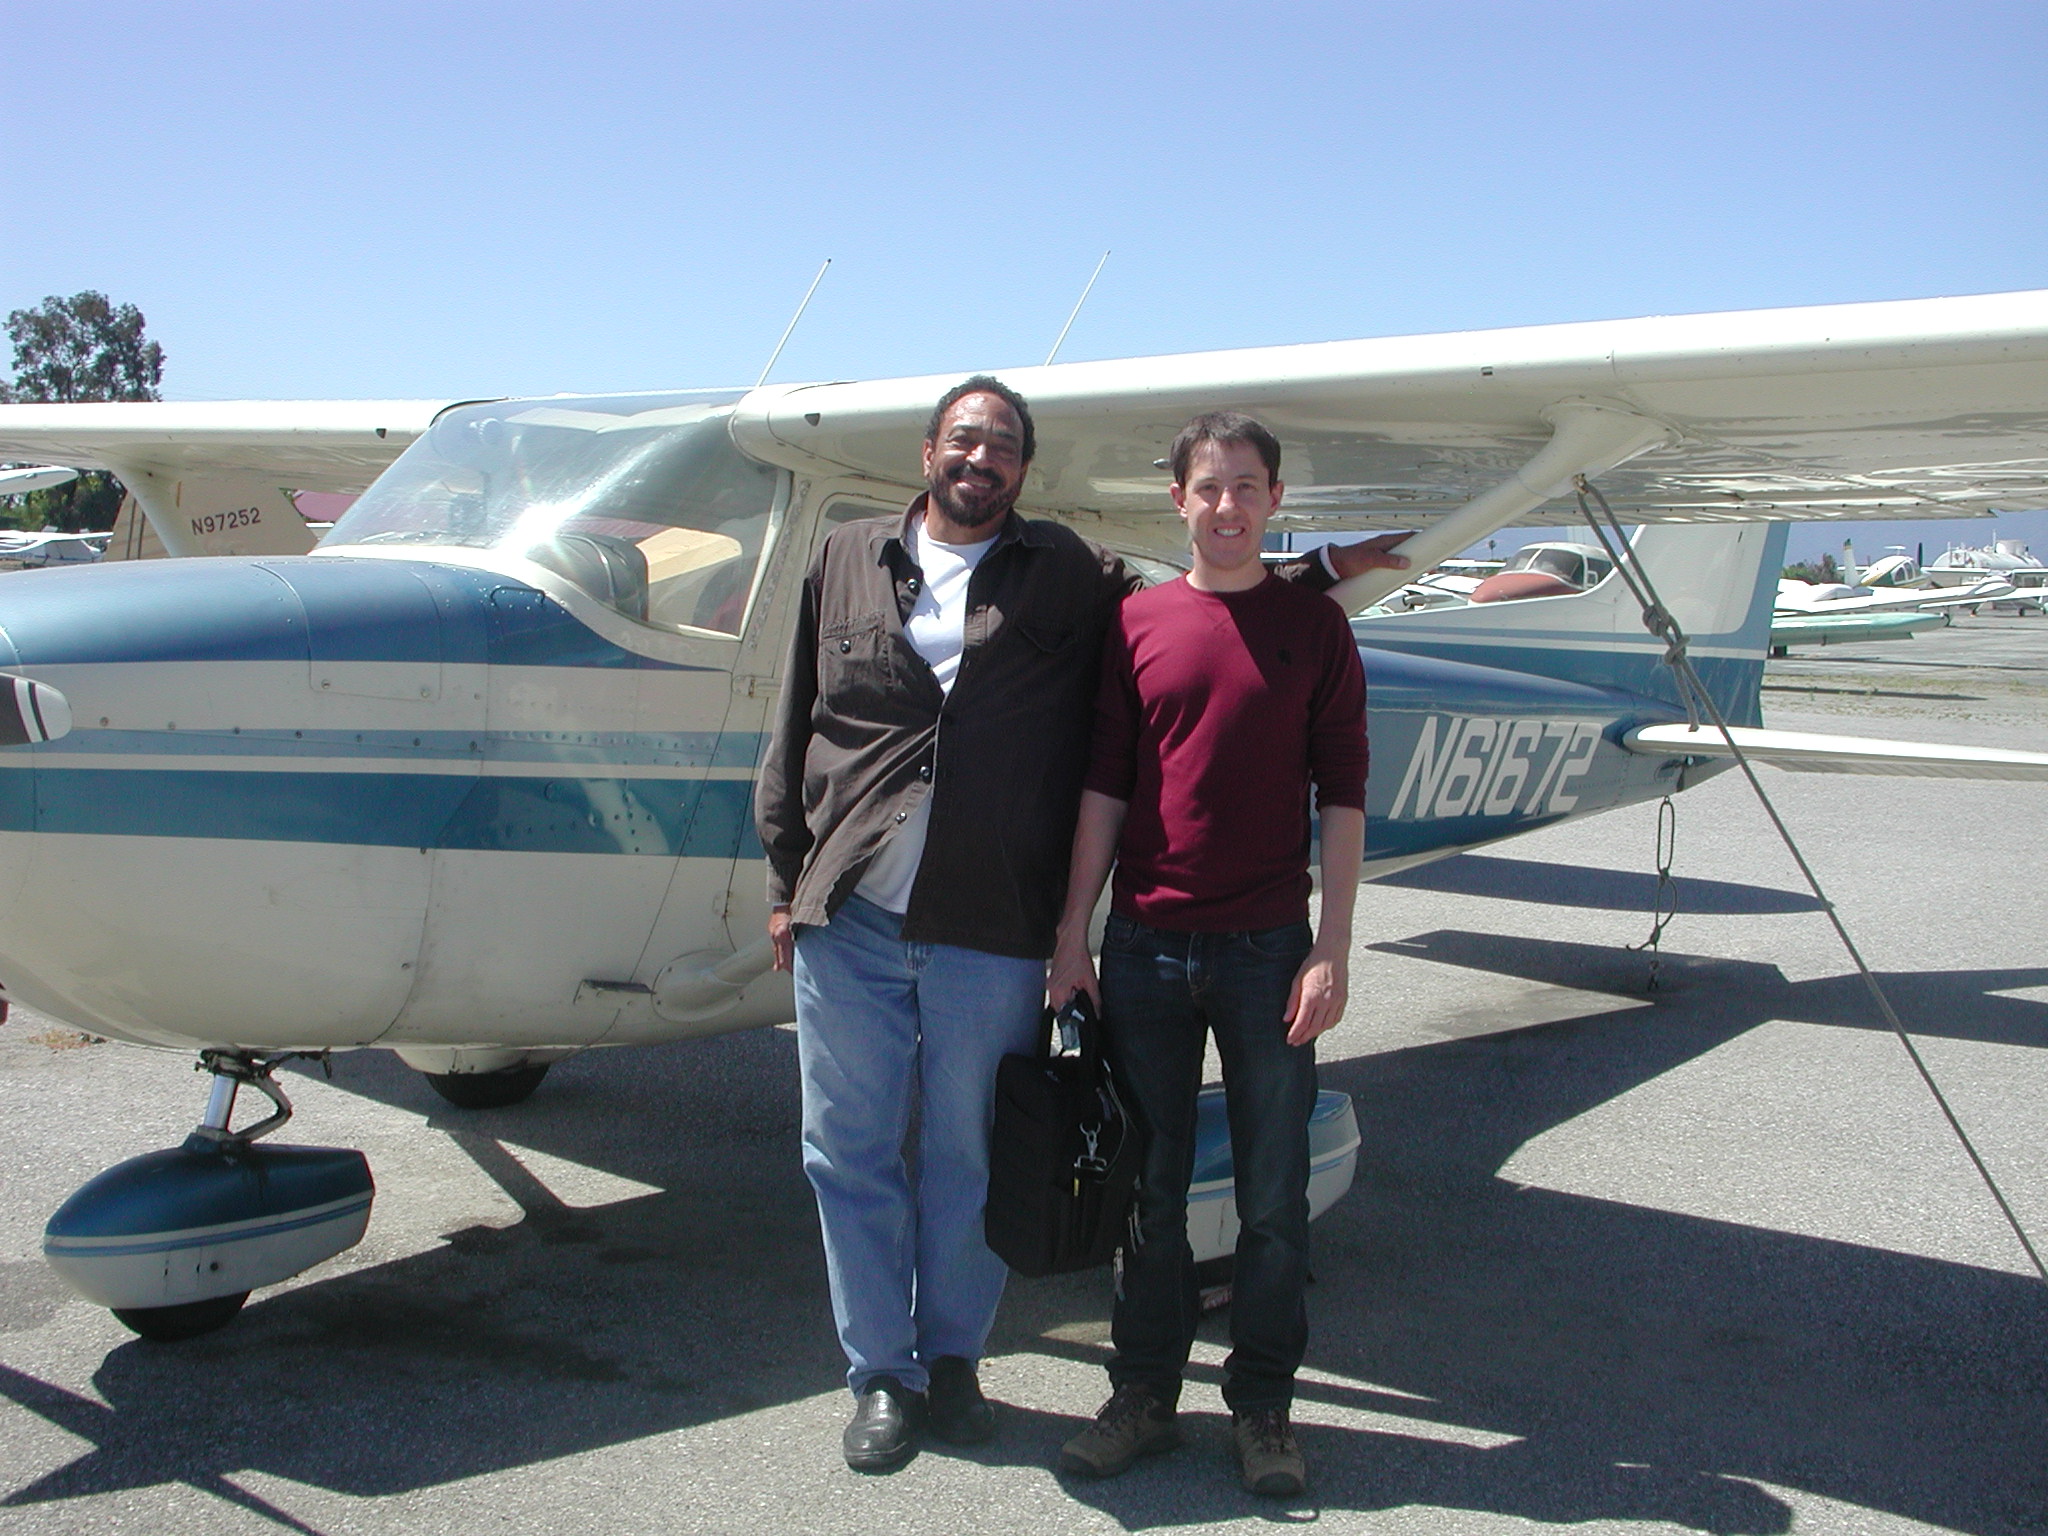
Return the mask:
[[(1110, 1477), (1180, 1444), (1174, 1415), (1200, 1319), (1194, 1100), (1212, 1032), (1241, 1223), (1223, 1397), (1245, 1487), (1292, 1495), (1307, 1477), (1288, 1409), (1309, 1341), (1313, 1040), (1343, 1016), (1366, 840), (1366, 682), (1335, 604), (1260, 561), (1284, 489), (1274, 434), (1235, 412), (1198, 416), (1171, 463), (1194, 561), (1126, 598), (1104, 645), (1047, 981), (1055, 1001), (1102, 1001), (1110, 1063), (1149, 1133), (1139, 1241), (1112, 1317), (1112, 1395), (1061, 1466)], [(1311, 784), (1323, 821), (1315, 932)], [(1087, 922), (1112, 858), (1098, 987)]]

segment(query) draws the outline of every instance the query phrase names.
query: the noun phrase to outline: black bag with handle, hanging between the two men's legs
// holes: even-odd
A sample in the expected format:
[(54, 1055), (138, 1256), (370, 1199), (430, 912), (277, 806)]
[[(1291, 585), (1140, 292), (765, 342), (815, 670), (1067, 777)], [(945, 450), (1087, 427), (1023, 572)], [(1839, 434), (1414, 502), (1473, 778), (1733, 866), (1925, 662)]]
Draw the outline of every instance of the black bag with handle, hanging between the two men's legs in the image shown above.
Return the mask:
[(1108, 1264), (1126, 1239), (1143, 1159), (1145, 1139), (1102, 1059), (1102, 1020), (1087, 993), (1057, 1016), (1047, 1008), (1038, 1049), (1004, 1057), (995, 1071), (989, 1247), (1024, 1276)]

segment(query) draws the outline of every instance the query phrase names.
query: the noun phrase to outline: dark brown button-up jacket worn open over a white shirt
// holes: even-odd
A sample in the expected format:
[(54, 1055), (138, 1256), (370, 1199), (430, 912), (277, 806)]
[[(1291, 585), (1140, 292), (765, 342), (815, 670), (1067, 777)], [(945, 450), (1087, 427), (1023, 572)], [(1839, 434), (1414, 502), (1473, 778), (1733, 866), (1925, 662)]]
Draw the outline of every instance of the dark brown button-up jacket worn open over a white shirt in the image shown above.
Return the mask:
[[(754, 817), (768, 901), (823, 924), (932, 795), (903, 938), (1042, 958), (1067, 893), (1102, 637), (1141, 580), (1073, 530), (1012, 512), (967, 586), (952, 692), (903, 621), (924, 573), (899, 518), (836, 528), (803, 584)], [(1288, 575), (1327, 586), (1321, 561)]]

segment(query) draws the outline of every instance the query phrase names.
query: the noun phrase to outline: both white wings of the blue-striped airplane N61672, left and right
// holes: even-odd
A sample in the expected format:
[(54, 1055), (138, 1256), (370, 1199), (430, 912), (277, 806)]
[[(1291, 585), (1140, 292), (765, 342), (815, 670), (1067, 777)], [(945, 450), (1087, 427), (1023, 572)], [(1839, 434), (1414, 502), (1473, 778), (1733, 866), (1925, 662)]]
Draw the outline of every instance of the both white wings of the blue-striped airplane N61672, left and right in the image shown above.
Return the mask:
[[(1632, 522), (1982, 516), (2048, 502), (2048, 291), (1317, 342), (1006, 369), (1038, 420), (1026, 510), (1176, 553), (1161, 455), (1194, 412), (1255, 412), (1286, 446), (1280, 528), (1419, 528), (1417, 565), (1509, 522), (1575, 520), (1595, 475)], [(797, 473), (920, 483), (958, 375), (776, 385), (748, 453)], [(358, 489), (438, 401), (0, 406), (0, 455), (170, 483)], [(152, 489), (154, 485), (154, 489)], [(236, 502), (221, 489), (213, 500)], [(231, 508), (229, 508), (231, 510)], [(170, 535), (166, 543), (172, 543)], [(176, 551), (174, 551), (176, 553)], [(1358, 608), (1399, 582), (1346, 588)]]

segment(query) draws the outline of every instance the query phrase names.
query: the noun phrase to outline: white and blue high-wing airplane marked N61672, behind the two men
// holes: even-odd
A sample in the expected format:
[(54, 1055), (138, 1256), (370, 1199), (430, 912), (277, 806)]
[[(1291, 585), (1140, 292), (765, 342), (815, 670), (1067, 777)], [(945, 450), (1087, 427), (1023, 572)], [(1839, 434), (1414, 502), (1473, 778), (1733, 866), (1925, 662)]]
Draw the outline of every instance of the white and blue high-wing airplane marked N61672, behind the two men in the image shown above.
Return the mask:
[[(1788, 520), (2048, 500), (2048, 293), (1004, 377), (1038, 418), (1024, 510), (1133, 557), (1182, 555), (1157, 455), (1219, 406), (1282, 436), (1280, 526), (1417, 528), (1415, 569), (1571, 520), (1589, 475), (1753, 756), (2048, 778), (1759, 713)], [(573, 1051), (791, 1018), (750, 797), (795, 594), (836, 522), (918, 489), (952, 381), (0, 408), (0, 455), (111, 469), (199, 555), (0, 580), (0, 981), (215, 1073), (184, 1147), (51, 1219), (72, 1284), (180, 1335), (362, 1235), (358, 1153), (256, 1145), (283, 1053), (395, 1051), (481, 1106)], [(307, 553), (289, 492), (365, 485)], [(1614, 578), (1356, 631), (1368, 877), (1726, 766)], [(236, 1130), (242, 1085), (276, 1112)]]

